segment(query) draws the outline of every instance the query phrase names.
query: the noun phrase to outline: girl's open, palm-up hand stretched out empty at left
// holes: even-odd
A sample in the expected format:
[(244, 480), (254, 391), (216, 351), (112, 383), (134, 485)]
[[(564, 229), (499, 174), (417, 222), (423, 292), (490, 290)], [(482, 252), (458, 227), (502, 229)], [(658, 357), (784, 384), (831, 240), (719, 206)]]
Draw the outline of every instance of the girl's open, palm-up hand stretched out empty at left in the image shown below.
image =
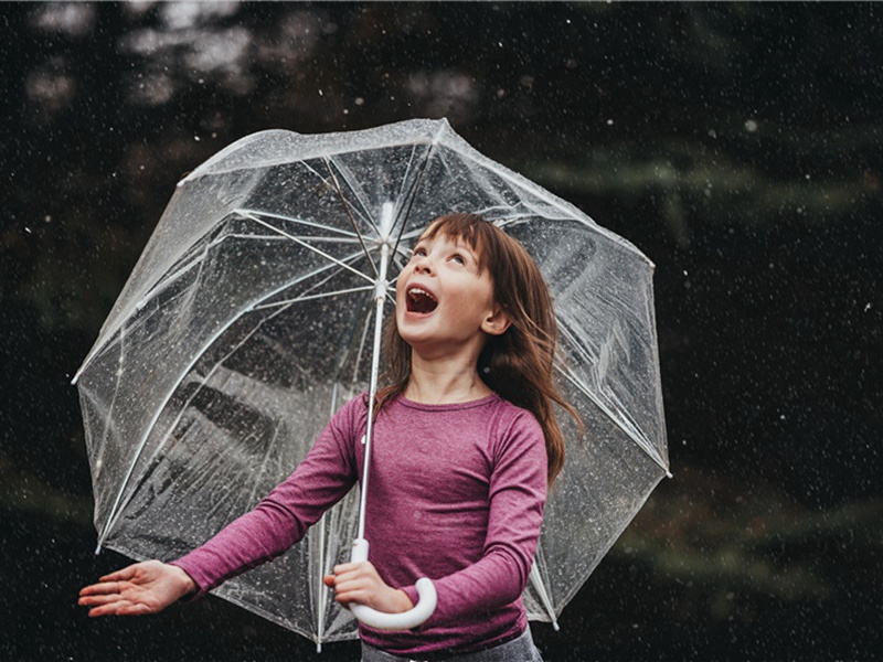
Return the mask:
[(146, 560), (110, 573), (79, 591), (79, 604), (89, 616), (157, 613), (196, 589), (178, 566)]

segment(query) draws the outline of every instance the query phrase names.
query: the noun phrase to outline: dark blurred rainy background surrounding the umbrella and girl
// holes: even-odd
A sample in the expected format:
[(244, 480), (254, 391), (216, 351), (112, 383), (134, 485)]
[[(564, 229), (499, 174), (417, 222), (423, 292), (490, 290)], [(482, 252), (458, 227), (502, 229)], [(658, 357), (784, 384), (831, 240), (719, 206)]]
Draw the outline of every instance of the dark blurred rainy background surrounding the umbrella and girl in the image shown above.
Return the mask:
[(2, 3), (0, 656), (321, 658), (221, 600), (89, 620), (76, 389), (175, 182), (235, 139), (442, 117), (656, 264), (673, 480), (562, 660), (881, 650), (883, 8)]

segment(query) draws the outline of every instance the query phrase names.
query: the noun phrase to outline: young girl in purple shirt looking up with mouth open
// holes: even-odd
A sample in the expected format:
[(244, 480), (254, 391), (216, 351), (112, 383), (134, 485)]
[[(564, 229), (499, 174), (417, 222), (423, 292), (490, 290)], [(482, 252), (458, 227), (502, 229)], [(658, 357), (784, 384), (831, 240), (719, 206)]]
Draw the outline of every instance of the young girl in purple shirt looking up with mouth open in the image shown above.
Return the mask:
[[(540, 270), (481, 216), (443, 216), (398, 276), (386, 332), (365, 512), (373, 564), (338, 565), (325, 583), (343, 605), (385, 612), (416, 604), (417, 578), (435, 583), (438, 605), (418, 628), (360, 627), (365, 662), (541, 660), (521, 594), (564, 461), (553, 405), (576, 414), (552, 383)], [(359, 480), (366, 416), (366, 397), (354, 398), (254, 511), (182, 558), (103, 577), (79, 604), (89, 616), (152, 613), (278, 556)]]

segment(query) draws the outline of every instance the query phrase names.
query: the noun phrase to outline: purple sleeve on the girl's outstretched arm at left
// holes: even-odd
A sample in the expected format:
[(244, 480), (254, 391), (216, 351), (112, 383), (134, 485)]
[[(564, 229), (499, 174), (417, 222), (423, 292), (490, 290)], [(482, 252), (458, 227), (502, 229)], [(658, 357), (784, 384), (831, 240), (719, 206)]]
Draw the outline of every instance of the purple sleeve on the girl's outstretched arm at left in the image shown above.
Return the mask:
[(253, 511), (201, 547), (170, 562), (196, 584), (199, 591), (192, 598), (279, 556), (347, 495), (358, 480), (353, 439), (364, 418), (359, 417), (361, 403), (357, 401), (360, 398), (334, 415), (294, 473)]

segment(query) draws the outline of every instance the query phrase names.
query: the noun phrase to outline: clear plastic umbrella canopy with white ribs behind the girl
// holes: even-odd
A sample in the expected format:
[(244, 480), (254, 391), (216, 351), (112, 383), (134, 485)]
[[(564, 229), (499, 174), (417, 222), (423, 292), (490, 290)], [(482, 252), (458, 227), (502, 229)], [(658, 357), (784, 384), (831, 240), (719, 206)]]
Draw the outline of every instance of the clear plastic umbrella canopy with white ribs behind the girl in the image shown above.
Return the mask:
[[(560, 386), (586, 424), (578, 439), (561, 417), (567, 463), (525, 591), (530, 618), (554, 621), (667, 473), (652, 265), (445, 120), (264, 131), (179, 184), (75, 377), (99, 547), (182, 555), (288, 476), (366, 387), (377, 282), (392, 282), (382, 253), (394, 276), (453, 212), (492, 220), (540, 265)], [(357, 517), (350, 494), (215, 592), (317, 642), (354, 638), (321, 576), (348, 557)]]

